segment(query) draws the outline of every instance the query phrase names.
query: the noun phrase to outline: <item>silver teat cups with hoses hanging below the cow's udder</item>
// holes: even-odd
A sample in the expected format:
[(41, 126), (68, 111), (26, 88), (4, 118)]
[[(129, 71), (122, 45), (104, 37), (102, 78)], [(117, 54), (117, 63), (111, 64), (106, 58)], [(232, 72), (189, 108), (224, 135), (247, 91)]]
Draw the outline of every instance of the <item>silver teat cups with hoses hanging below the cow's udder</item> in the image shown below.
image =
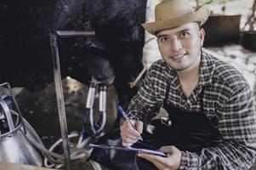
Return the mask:
[[(99, 91), (97, 92), (97, 89)], [(100, 116), (94, 117), (94, 100), (95, 95), (99, 93), (99, 113)], [(88, 88), (88, 95), (85, 105), (85, 118), (82, 126), (81, 133), (71, 133), (68, 135), (68, 139), (78, 138), (77, 144), (72, 147), (71, 160), (79, 159), (82, 157), (88, 157), (90, 155), (91, 149), (85, 150), (84, 147), (92, 139), (97, 139), (104, 134), (103, 130), (106, 122), (106, 86), (101, 82), (96, 82), (94, 79), (90, 82), (90, 87)], [(57, 140), (50, 148), (53, 151), (59, 144), (61, 144), (63, 139)], [(70, 144), (69, 144), (70, 147)], [(75, 150), (75, 151), (74, 151)], [(80, 150), (80, 151), (78, 151)], [(94, 169), (101, 169), (96, 162), (91, 162)], [(44, 159), (45, 167), (61, 167), (63, 164), (51, 163), (48, 164), (48, 159)]]

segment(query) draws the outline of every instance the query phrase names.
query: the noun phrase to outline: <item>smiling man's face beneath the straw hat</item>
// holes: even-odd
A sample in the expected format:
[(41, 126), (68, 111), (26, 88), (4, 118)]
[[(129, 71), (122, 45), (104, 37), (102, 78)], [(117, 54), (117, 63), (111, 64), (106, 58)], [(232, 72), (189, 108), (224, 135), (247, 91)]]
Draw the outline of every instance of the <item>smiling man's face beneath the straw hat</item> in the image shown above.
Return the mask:
[(200, 62), (204, 31), (196, 22), (157, 32), (162, 59), (175, 71), (189, 70)]

